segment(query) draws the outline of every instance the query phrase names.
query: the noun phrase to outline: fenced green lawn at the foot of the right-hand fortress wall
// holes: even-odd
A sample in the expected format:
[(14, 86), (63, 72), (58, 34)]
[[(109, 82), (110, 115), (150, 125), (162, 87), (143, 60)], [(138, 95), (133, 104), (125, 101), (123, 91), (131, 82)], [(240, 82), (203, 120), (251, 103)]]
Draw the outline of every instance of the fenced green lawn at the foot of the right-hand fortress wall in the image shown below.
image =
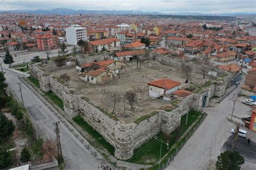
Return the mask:
[[(181, 116), (181, 123), (180, 123), (180, 132), (179, 134), (176, 131), (171, 133), (171, 141), (169, 143), (169, 148), (173, 145), (177, 145), (180, 141), (176, 141), (176, 135), (181, 137), (183, 133), (195, 122), (197, 121), (200, 112), (191, 110), (188, 114), (187, 125), (186, 123), (186, 115)], [(163, 133), (159, 133), (157, 139), (151, 138), (143, 145), (139, 146), (134, 150), (133, 157), (128, 162), (136, 163), (136, 164), (148, 164), (154, 165), (159, 161), (160, 156), (160, 147), (161, 147), (161, 140), (166, 143), (166, 138)], [(161, 158), (168, 152), (166, 144), (162, 143), (162, 150), (161, 150)]]

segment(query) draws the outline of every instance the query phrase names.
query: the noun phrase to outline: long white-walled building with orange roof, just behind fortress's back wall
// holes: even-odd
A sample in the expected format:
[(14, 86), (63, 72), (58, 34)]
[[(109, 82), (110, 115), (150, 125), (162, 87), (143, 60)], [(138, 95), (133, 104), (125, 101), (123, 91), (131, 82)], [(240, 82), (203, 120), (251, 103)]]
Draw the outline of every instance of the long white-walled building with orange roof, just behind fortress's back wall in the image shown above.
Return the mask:
[(120, 47), (120, 40), (117, 38), (100, 39), (96, 41), (87, 42), (87, 52), (92, 53), (96, 51), (111, 50)]

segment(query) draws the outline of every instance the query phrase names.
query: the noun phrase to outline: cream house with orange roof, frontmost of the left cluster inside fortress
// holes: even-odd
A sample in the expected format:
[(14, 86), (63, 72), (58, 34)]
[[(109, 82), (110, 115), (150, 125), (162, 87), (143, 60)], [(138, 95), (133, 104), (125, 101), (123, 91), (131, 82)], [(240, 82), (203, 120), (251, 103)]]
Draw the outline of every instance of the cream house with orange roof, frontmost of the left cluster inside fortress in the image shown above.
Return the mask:
[(92, 70), (86, 73), (80, 73), (79, 78), (91, 84), (100, 84), (112, 80), (112, 72), (104, 69)]

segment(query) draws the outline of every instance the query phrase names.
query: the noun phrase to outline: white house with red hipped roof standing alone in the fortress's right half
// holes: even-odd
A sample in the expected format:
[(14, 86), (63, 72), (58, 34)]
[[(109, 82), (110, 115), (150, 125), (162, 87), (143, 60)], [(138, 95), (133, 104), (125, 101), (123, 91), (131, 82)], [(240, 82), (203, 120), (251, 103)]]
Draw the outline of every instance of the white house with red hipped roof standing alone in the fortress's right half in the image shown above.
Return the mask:
[(166, 95), (170, 95), (174, 91), (177, 91), (181, 83), (170, 79), (158, 79), (147, 84), (149, 85), (149, 96), (170, 100)]

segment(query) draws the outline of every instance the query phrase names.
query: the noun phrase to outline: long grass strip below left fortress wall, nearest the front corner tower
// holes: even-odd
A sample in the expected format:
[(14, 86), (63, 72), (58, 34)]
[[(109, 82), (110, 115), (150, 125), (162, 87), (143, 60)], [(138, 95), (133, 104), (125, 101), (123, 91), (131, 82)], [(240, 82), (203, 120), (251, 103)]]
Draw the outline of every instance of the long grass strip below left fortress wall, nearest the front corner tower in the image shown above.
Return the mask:
[(78, 115), (72, 118), (83, 130), (89, 133), (95, 140), (106, 148), (112, 155), (114, 155), (114, 147), (108, 143), (101, 134), (99, 134), (96, 130), (93, 130), (92, 126), (89, 125), (86, 121), (84, 121), (83, 117)]

